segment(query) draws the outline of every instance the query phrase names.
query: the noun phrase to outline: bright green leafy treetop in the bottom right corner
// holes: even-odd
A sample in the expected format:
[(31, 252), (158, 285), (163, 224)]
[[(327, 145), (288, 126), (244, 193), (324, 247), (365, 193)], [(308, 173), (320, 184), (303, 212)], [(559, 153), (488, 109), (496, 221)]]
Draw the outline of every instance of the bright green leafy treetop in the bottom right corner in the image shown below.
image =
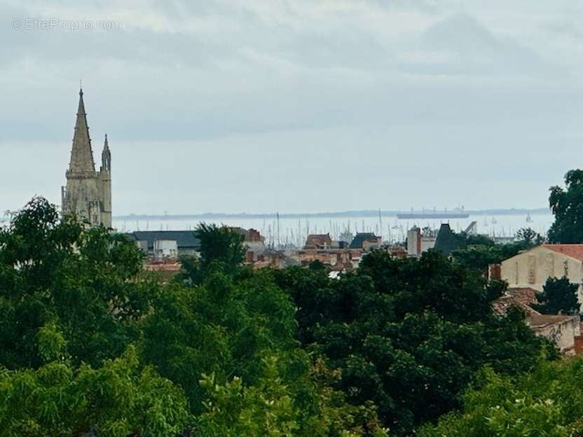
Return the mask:
[(418, 432), (420, 437), (583, 435), (583, 360), (542, 363), (519, 378), (486, 369), (481, 388), (463, 396), (453, 412)]

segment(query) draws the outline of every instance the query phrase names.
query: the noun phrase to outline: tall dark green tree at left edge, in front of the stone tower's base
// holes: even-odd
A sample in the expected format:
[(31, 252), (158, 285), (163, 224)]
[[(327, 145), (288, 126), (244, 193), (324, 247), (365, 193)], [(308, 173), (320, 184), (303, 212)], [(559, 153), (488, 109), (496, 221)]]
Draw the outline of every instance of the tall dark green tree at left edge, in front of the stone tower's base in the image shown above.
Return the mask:
[(34, 198), (0, 229), (0, 364), (41, 366), (37, 339), (51, 330), (74, 364), (119, 356), (149, 307), (149, 285), (132, 280), (141, 269), (141, 254), (123, 236), (61, 220)]

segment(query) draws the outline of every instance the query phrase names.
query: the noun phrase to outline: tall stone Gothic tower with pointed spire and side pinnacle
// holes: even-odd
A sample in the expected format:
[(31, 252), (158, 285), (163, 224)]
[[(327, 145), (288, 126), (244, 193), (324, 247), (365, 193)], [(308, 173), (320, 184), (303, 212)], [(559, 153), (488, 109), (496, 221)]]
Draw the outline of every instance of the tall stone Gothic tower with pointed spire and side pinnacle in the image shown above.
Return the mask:
[(107, 134), (100, 171), (95, 171), (83, 90), (79, 90), (79, 107), (71, 148), (67, 186), (61, 187), (63, 214), (76, 214), (90, 226), (111, 228), (111, 153)]

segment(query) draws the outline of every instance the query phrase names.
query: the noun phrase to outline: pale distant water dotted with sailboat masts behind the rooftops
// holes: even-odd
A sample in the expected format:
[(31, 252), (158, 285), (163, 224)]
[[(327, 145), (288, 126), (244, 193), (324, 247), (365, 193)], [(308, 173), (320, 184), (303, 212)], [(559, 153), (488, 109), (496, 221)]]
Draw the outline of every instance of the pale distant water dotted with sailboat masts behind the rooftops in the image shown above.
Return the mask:
[[(395, 216), (377, 217), (306, 217), (287, 219), (279, 221), (279, 229), (276, 219), (254, 219), (254, 218), (228, 218), (228, 219), (205, 219), (206, 223), (224, 224), (226, 226), (240, 226), (241, 228), (254, 228), (265, 236), (269, 243), (295, 244), (302, 246), (308, 234), (330, 233), (332, 239), (338, 239), (345, 230), (356, 232), (373, 232), (381, 235), (383, 240), (390, 242), (404, 241), (407, 229), (413, 225), (424, 228), (437, 229), (441, 223), (449, 223), (456, 232), (465, 230), (472, 221), (476, 221), (478, 233), (496, 237), (509, 237), (516, 234), (521, 228), (532, 228), (537, 233), (545, 235), (554, 221), (552, 214), (530, 214), (530, 223), (527, 222), (526, 214), (521, 215), (475, 215), (468, 219), (450, 220), (399, 220)], [(119, 220), (114, 219), (114, 228), (121, 232), (132, 232), (134, 230), (194, 230), (200, 220), (196, 219), (156, 219), (156, 220)]]

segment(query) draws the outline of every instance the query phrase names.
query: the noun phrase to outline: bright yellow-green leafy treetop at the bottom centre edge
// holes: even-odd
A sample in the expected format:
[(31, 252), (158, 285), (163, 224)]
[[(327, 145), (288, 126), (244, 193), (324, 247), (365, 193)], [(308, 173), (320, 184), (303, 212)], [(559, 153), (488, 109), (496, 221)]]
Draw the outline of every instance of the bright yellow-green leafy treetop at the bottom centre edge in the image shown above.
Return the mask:
[(373, 405), (349, 405), (341, 391), (329, 387), (328, 378), (337, 379), (339, 373), (329, 372), (322, 361), (315, 363), (312, 375), (325, 380), (315, 381), (317, 393), (303, 408), (294, 400), (295, 390), (284, 383), (276, 356), (262, 359), (260, 368), (252, 386), (239, 377), (224, 384), (214, 375), (203, 377), (200, 385), (208, 394), (198, 418), (203, 436), (387, 437)]

